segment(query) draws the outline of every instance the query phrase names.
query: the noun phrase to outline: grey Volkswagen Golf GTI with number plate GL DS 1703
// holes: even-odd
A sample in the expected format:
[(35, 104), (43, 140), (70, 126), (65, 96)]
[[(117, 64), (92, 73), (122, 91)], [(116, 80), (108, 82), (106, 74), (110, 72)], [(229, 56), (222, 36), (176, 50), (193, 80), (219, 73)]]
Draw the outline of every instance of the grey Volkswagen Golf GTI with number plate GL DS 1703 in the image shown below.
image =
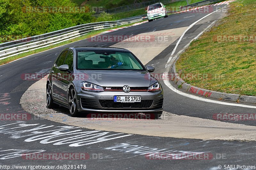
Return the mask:
[(47, 78), (47, 107), (67, 107), (71, 116), (88, 113), (143, 113), (159, 118), (163, 90), (129, 50), (70, 47), (63, 50)]

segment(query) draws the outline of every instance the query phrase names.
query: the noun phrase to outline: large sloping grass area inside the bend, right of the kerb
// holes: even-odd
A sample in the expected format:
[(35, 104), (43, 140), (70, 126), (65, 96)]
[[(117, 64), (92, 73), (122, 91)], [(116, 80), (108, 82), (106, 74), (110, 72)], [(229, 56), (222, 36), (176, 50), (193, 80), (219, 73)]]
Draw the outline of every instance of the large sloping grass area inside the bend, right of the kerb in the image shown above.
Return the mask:
[(216, 41), (218, 35), (255, 36), (255, 7), (255, 0), (236, 0), (227, 17), (190, 45), (176, 63), (177, 72), (208, 76), (183, 76), (184, 81), (204, 89), (256, 96), (256, 42)]

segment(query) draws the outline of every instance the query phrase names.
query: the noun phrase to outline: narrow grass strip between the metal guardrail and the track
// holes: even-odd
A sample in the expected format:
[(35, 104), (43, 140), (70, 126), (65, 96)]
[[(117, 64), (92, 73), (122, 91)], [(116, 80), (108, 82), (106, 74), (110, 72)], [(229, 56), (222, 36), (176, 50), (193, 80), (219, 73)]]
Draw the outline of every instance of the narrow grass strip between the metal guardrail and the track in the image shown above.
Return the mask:
[[(139, 22), (141, 22), (141, 21), (139, 21)], [(135, 23), (125, 24), (125, 25), (122, 25), (122, 26), (130, 26), (130, 25), (133, 25)], [(58, 44), (55, 44), (55, 45), (52, 45), (52, 46), (47, 46), (47, 47), (44, 47), (44, 48), (40, 48), (40, 49), (32, 50), (32, 51), (29, 51), (29, 52), (26, 52), (26, 53), (21, 53), (21, 54), (12, 56), (12, 57), (8, 57), (6, 59), (0, 60), (0, 65), (9, 63), (13, 60), (17, 60), (19, 58), (22, 58), (22, 57), (25, 57), (25, 56), (28, 56), (28, 55), (31, 55), (31, 54), (35, 54), (35, 53), (39, 53), (39, 52), (42, 52), (42, 51), (45, 51), (45, 50), (49, 50), (49, 49), (52, 49), (52, 48), (57, 47), (57, 46), (63, 46), (63, 45), (68, 44), (68, 43), (72, 43), (72, 42), (79, 41), (79, 40), (82, 40), (82, 39), (87, 39), (87, 38), (90, 38), (91, 36), (97, 35), (101, 32), (107, 31), (109, 29), (119, 28), (119, 27), (121, 27), (121, 26), (116, 26), (116, 27), (113, 27), (113, 28), (106, 28), (106, 29), (102, 29), (102, 30), (92, 31), (92, 32), (89, 32), (88, 34), (85, 34), (85, 35), (81, 36), (81, 37), (77, 37), (77, 38), (74, 38), (74, 39), (63, 41), (61, 43), (58, 43)]]

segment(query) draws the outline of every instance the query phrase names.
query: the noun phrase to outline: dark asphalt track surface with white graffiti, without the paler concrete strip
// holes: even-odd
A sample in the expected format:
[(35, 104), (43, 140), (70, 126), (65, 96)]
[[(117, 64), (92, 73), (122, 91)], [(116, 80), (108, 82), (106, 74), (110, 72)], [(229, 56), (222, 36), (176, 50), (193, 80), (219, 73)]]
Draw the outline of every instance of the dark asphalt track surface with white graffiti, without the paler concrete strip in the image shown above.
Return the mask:
[[(224, 6), (224, 5), (223, 5)], [(180, 13), (168, 18), (157, 19), (138, 26), (108, 32), (104, 35), (137, 35), (169, 29), (188, 27), (209, 13)], [(175, 54), (206, 27), (224, 15), (215, 12), (193, 26), (181, 40)], [(179, 37), (178, 37), (179, 38)], [(165, 72), (165, 65), (178, 38), (145, 65), (152, 65), (154, 73)], [(117, 42), (90, 42), (88, 39), (37, 53), (9, 64), (0, 66), (0, 113), (25, 113), (20, 106), (23, 93), (35, 81), (22, 80), (25, 73), (49, 73), (59, 53), (70, 46), (115, 46)], [(125, 48), (125, 46), (124, 46)], [(140, 58), (140, 56), (138, 56)], [(221, 105), (194, 100), (181, 96), (169, 89), (160, 80), (164, 90), (164, 111), (213, 119), (215, 113), (255, 113), (255, 109)], [(174, 83), (171, 82), (173, 86)], [(177, 87), (177, 86), (175, 86)], [(228, 103), (228, 102), (227, 102)], [(232, 102), (229, 102), (232, 103)], [(228, 121), (236, 124), (255, 126), (255, 121)], [(143, 130), (143, 129), (141, 129)], [(154, 131), (154, 127), (152, 127)], [(77, 134), (76, 134), (77, 133)], [(96, 140), (84, 138), (78, 141), (78, 134), (93, 134)], [(212, 131), (214, 133), (214, 131)], [(87, 169), (218, 169), (221, 165), (252, 165), (255, 160), (256, 142), (200, 140), (186, 138), (151, 137), (135, 134), (93, 131), (77, 128), (45, 119), (28, 121), (0, 122), (0, 161), (1, 165), (86, 165)], [(210, 152), (212, 159), (206, 160), (152, 160), (148, 152), (198, 153)], [(21, 153), (81, 153), (90, 155), (88, 160), (26, 160)], [(98, 155), (94, 157), (93, 155)], [(220, 158), (220, 155), (222, 157)], [(102, 159), (99, 159), (101, 157)], [(68, 168), (63, 168), (68, 169)], [(239, 168), (238, 168), (239, 169)], [(241, 169), (241, 168), (240, 168)]]

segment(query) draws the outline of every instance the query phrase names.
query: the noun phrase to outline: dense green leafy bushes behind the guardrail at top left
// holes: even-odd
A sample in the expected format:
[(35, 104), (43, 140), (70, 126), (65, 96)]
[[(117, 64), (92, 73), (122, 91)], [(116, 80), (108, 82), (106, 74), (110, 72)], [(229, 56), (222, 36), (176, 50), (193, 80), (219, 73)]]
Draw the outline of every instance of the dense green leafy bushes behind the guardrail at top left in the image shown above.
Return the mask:
[[(4, 37), (34, 36), (95, 21), (93, 12), (33, 12), (31, 7), (76, 7), (70, 0), (0, 0), (0, 42)], [(89, 9), (88, 6), (85, 6)]]

